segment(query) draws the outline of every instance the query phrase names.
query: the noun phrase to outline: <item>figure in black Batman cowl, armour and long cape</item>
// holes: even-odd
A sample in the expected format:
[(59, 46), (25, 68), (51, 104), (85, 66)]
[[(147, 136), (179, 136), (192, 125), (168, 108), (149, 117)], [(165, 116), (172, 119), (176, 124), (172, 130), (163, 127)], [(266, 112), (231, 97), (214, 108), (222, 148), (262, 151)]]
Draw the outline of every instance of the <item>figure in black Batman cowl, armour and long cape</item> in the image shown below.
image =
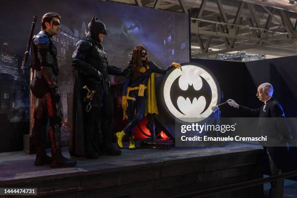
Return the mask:
[(128, 69), (108, 65), (102, 46), (105, 25), (92, 18), (89, 32), (72, 55), (75, 68), (73, 125), (70, 134), (71, 156), (96, 159), (100, 154), (120, 155), (112, 142), (113, 98), (108, 74), (128, 76)]

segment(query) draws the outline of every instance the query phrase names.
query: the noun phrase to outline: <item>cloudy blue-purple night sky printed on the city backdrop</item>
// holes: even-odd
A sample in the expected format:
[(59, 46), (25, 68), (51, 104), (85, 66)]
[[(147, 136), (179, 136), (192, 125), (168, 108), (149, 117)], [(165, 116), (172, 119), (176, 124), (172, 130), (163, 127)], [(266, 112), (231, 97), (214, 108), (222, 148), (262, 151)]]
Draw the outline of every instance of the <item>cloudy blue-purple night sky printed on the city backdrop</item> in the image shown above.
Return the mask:
[[(163, 66), (165, 61), (164, 39), (170, 33), (164, 24), (168, 15), (179, 18), (175, 26), (179, 36), (174, 42), (188, 42), (188, 16), (182, 13), (155, 10), (151, 8), (123, 5), (101, 0), (5, 0), (0, 7), (0, 47), (7, 42), (9, 49), (16, 54), (23, 54), (27, 45), (28, 35), (33, 16), (38, 16), (34, 34), (40, 31), (40, 19), (47, 12), (57, 12), (61, 15), (61, 23), (70, 29), (82, 30), (82, 22), (89, 23), (92, 16), (97, 16), (107, 28), (103, 46), (109, 55), (111, 64), (121, 63), (119, 57), (125, 57), (137, 45), (148, 48), (149, 57)], [(141, 31), (137, 34), (123, 33), (124, 24), (140, 24)], [(175, 25), (174, 21), (167, 22)], [(180, 44), (176, 45), (179, 48)], [(188, 50), (178, 62), (188, 61)], [(125, 62), (125, 61), (122, 61)], [(172, 61), (171, 61), (172, 62)], [(162, 66), (161, 65), (161, 66)]]

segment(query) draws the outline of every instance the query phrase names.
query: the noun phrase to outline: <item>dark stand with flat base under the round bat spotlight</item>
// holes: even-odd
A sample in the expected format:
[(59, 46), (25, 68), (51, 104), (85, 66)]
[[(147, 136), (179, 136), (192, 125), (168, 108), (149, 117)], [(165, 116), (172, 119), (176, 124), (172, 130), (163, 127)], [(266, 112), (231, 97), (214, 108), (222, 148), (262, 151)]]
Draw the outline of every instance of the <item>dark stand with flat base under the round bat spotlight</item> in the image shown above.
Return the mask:
[(140, 140), (140, 146), (145, 148), (169, 149), (174, 145), (174, 141), (170, 139), (157, 139), (155, 132), (155, 114), (148, 114), (148, 126), (150, 138)]

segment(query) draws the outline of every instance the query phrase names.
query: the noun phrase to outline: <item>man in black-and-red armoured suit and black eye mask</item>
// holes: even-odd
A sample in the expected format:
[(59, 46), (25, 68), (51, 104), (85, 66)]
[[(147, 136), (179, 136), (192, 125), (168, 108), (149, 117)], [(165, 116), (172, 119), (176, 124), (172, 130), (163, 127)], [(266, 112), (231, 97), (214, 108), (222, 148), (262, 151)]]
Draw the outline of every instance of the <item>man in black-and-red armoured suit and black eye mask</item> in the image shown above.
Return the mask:
[[(60, 15), (47, 13), (41, 19), (41, 29), (33, 37), (30, 66), (33, 72), (31, 91), (36, 97), (34, 106), (33, 144), (36, 148), (35, 165), (50, 164), (50, 167), (72, 167), (75, 161), (63, 157), (60, 147), (62, 104), (58, 93), (57, 49), (51, 41), (52, 35), (59, 32)], [(46, 154), (45, 142), (49, 120), (49, 140), (51, 157)]]

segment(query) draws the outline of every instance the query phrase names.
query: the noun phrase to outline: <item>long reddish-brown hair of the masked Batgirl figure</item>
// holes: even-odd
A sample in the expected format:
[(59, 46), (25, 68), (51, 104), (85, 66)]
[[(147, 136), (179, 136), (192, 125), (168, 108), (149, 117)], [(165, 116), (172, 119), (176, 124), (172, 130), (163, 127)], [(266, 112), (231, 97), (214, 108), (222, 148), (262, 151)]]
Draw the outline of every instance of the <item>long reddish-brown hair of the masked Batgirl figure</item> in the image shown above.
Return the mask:
[[(145, 50), (147, 53), (147, 49), (145, 49), (143, 46), (136, 46), (133, 49), (133, 53), (132, 53), (132, 58), (131, 58), (131, 64), (132, 64), (132, 68), (133, 68), (133, 80), (137, 79), (139, 76), (139, 70), (140, 67), (142, 66), (142, 50)], [(146, 62), (148, 63), (148, 56), (147, 56), (147, 60)]]

